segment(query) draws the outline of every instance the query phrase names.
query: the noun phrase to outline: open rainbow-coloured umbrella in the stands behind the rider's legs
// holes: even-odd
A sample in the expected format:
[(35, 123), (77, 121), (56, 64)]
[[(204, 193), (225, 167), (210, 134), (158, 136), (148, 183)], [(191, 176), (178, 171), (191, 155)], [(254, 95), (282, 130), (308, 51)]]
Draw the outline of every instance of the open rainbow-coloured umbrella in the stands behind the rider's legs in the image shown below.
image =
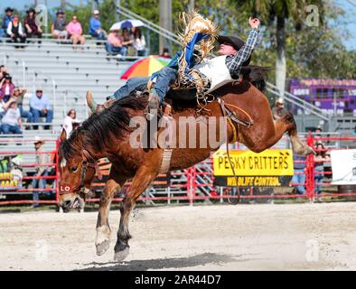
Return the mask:
[(162, 69), (171, 59), (151, 55), (144, 59), (135, 61), (127, 70), (120, 74), (120, 79), (145, 78), (152, 73)]

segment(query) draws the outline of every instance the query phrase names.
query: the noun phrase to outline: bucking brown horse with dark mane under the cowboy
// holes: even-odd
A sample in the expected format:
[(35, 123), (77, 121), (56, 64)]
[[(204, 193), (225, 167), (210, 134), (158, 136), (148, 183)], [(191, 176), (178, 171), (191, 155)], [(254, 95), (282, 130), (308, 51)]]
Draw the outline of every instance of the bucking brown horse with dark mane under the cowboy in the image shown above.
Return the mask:
[[(216, 98), (223, 99), (225, 106), (230, 106), (240, 119), (248, 122), (247, 116), (249, 116), (253, 125), (248, 127), (233, 122), (217, 122), (215, 130), (211, 130), (209, 119), (223, 116), (217, 100), (209, 102), (200, 114), (197, 113), (196, 107), (178, 109), (173, 106), (173, 120), (178, 120), (180, 117), (197, 117), (196, 123), (193, 124), (195, 129), (190, 132), (197, 145), (196, 148), (191, 148), (185, 145), (187, 140), (182, 135), (175, 135), (173, 143), (176, 145), (166, 171), (181, 170), (200, 163), (216, 151), (220, 144), (226, 140), (234, 142), (236, 137), (239, 143), (258, 153), (276, 144), (284, 133), (288, 133), (296, 154), (313, 153), (309, 146), (299, 140), (293, 116), (288, 114), (274, 122), (266, 96), (248, 81), (243, 81), (238, 86), (225, 85), (216, 90), (214, 95)], [(137, 117), (145, 119), (146, 105), (146, 96), (130, 96), (117, 100), (111, 107), (89, 117), (79, 129), (71, 133), (68, 140), (65, 131), (61, 134), (59, 203), (63, 210), (68, 211), (76, 206), (78, 200), (85, 199), (96, 172), (95, 163), (98, 159), (108, 157), (112, 163), (108, 182), (99, 203), (96, 238), (98, 255), (105, 253), (109, 247), (108, 212), (111, 200), (127, 179), (133, 179), (120, 207), (121, 218), (115, 246), (116, 260), (122, 260), (128, 253), (128, 239), (131, 238), (128, 232), (130, 211), (136, 199), (160, 172), (163, 159), (166, 158), (162, 145), (157, 148), (137, 148), (132, 145), (130, 136), (134, 135), (136, 130), (129, 125), (130, 120)], [(205, 123), (208, 130), (203, 131), (201, 123)], [(184, 132), (188, 130), (186, 126), (183, 126), (181, 131), (182, 129)], [(221, 131), (227, 133), (219, 138)], [(160, 132), (162, 134), (163, 130), (161, 129)], [(208, 138), (213, 136), (218, 141), (213, 145), (211, 143), (202, 145), (199, 141), (201, 135)]]

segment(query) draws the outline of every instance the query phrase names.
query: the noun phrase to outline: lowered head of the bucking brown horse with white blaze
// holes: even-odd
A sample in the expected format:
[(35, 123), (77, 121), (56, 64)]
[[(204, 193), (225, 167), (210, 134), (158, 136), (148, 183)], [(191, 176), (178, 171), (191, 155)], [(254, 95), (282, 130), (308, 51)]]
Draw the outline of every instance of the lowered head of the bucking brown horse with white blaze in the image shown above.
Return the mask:
[[(78, 136), (77, 136), (78, 137)], [(89, 190), (90, 183), (96, 173), (100, 177), (98, 165), (91, 155), (78, 142), (71, 138), (67, 140), (65, 129), (61, 132), (58, 172), (59, 205), (64, 212), (70, 209), (82, 209)]]

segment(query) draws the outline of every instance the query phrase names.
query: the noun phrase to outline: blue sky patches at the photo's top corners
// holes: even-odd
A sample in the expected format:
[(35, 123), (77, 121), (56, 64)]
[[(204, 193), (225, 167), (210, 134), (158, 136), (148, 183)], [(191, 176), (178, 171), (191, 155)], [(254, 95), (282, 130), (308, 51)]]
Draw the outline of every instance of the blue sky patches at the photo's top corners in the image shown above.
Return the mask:
[[(129, 0), (121, 0), (129, 1)], [(356, 0), (332, 0), (337, 5), (341, 5), (342, 8), (347, 11), (347, 19), (350, 22), (347, 24), (346, 28), (351, 33), (350, 39), (343, 40), (344, 45), (349, 50), (356, 50)], [(0, 0), (0, 11), (4, 11), (5, 8), (11, 3), (11, 6), (22, 10), (24, 5), (34, 5), (35, 0)], [(68, 0), (69, 3), (73, 5), (78, 5), (80, 0)], [(84, 0), (84, 3), (87, 1)], [(38, 4), (45, 4), (49, 6), (49, 8), (53, 8), (59, 6), (61, 0), (37, 0)]]

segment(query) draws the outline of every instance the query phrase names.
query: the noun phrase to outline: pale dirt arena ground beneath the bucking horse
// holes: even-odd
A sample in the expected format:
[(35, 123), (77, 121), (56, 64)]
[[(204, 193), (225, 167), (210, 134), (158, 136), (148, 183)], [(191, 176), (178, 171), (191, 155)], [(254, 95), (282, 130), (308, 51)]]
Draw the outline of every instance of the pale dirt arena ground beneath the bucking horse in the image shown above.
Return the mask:
[(0, 215), (0, 270), (356, 270), (356, 202), (136, 209), (130, 255), (95, 254), (97, 213)]

